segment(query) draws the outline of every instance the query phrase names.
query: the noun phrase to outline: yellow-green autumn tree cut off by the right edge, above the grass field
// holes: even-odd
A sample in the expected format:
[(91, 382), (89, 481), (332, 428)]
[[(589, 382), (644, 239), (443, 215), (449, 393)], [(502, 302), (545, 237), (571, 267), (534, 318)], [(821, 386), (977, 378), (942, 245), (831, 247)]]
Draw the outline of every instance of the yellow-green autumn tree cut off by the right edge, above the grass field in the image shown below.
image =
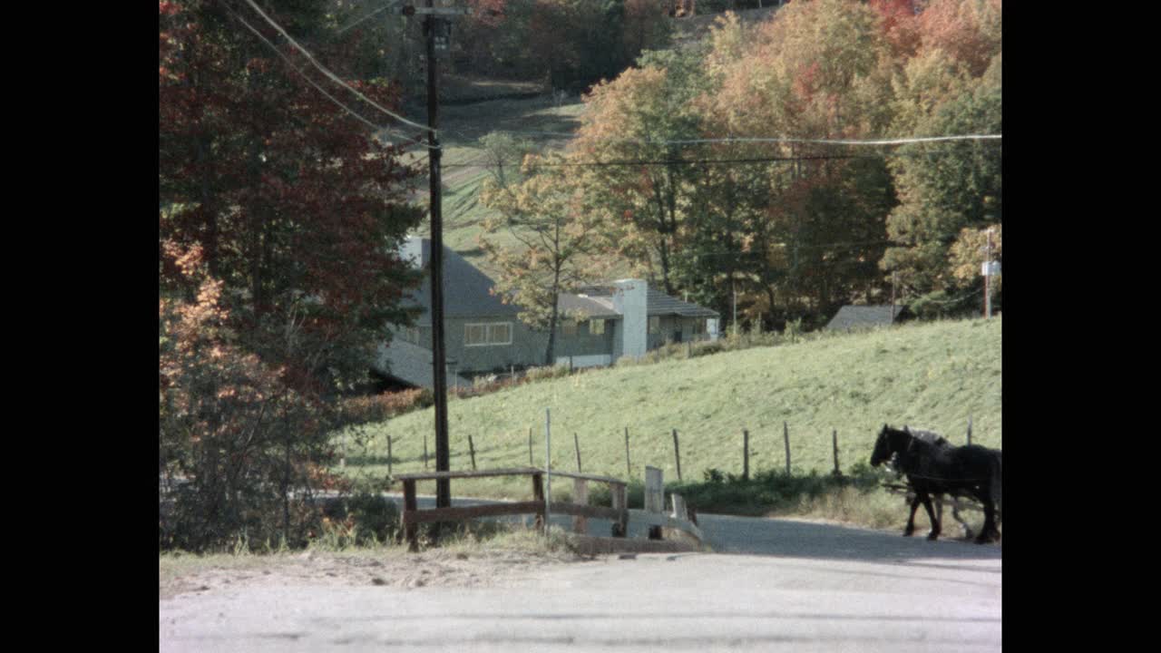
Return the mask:
[[(998, 9), (997, 1), (938, 0), (923, 12), (922, 46), (895, 80), (896, 134), (1002, 134)], [(893, 162), (900, 204), (887, 218), (893, 246), (880, 266), (921, 314), (980, 306), (982, 279), (957, 274), (962, 252), (952, 247), (965, 230), (1002, 224), (1001, 148), (998, 139), (917, 143)]]

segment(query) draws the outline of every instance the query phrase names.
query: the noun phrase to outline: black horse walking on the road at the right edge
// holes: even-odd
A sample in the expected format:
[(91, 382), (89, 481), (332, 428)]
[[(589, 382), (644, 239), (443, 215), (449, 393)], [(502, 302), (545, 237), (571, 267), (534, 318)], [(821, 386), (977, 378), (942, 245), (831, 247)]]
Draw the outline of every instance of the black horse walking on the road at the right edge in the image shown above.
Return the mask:
[(878, 466), (892, 458), (915, 489), (904, 536), (915, 532), (915, 510), (922, 502), (931, 521), (928, 539), (939, 537), (939, 519), (931, 508), (931, 496), (940, 494), (972, 496), (983, 504), (983, 529), (975, 538), (978, 544), (1000, 536), (995, 521), (1002, 475), (998, 451), (978, 445), (951, 446), (946, 440), (916, 437), (884, 424), (871, 454), (871, 465)]

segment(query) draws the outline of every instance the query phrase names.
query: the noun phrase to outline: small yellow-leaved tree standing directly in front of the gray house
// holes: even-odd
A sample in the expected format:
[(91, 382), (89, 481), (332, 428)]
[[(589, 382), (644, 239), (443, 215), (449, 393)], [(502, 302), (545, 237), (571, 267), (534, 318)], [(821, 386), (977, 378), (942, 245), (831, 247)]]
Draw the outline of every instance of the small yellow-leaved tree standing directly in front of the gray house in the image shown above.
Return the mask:
[(521, 184), (484, 181), (481, 201), (497, 213), (481, 246), (499, 268), (495, 292), (520, 307), (525, 323), (548, 332), (545, 364), (554, 361), (561, 293), (604, 280), (610, 234), (600, 229), (585, 193), (560, 156), (529, 156)]

